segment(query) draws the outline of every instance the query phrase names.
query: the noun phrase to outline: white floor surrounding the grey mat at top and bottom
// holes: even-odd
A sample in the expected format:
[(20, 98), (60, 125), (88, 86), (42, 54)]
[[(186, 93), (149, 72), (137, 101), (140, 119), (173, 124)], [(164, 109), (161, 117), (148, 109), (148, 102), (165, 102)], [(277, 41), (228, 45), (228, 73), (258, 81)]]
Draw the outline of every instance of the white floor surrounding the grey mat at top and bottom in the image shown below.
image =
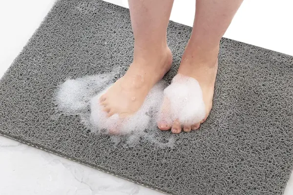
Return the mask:
[[(127, 0), (107, 0), (127, 7)], [(192, 25), (195, 0), (175, 0), (171, 20)], [(0, 1), (0, 77), (54, 0)], [(225, 37), (293, 55), (293, 1), (245, 0)], [(0, 195), (160, 195), (127, 180), (0, 137)], [(285, 195), (293, 195), (293, 176)]]

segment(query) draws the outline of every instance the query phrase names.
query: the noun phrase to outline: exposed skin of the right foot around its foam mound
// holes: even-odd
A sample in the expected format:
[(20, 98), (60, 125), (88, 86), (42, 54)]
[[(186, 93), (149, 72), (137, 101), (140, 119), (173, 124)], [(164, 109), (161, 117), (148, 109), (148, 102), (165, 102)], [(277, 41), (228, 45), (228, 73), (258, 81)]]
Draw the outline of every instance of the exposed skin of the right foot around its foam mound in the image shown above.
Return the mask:
[[(209, 116), (209, 112), (212, 107), (212, 98), (217, 68), (218, 48), (215, 48), (214, 50), (211, 50), (209, 52), (203, 52), (194, 50), (191, 51), (188, 50), (187, 47), (178, 70), (178, 75), (195, 78), (198, 81), (202, 91), (203, 102), (205, 104), (205, 115), (203, 115), (205, 117), (199, 120), (193, 120), (196, 122), (193, 122), (192, 124), (186, 121), (180, 121), (179, 118), (172, 119), (172, 121), (167, 121), (164, 118), (159, 118), (159, 129), (163, 131), (171, 129), (172, 133), (179, 134), (182, 131), (182, 128), (184, 132), (189, 132), (191, 130), (197, 130), (200, 127), (200, 124), (203, 123)], [(170, 86), (172, 86), (172, 84), (173, 83), (171, 83)], [(174, 112), (170, 109), (170, 100), (166, 97), (166, 95), (160, 112), (162, 113), (162, 116), (172, 115), (171, 112)], [(194, 112), (197, 111), (195, 110)], [(194, 116), (196, 116), (196, 113)]]

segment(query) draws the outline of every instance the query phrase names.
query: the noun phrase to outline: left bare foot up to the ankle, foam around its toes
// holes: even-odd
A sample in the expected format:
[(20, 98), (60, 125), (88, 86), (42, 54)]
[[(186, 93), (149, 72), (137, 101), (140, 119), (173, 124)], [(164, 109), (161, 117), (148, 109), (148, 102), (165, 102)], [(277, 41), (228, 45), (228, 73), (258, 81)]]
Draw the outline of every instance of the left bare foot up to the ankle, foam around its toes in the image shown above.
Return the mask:
[(172, 54), (168, 47), (156, 55), (135, 59), (126, 74), (100, 98), (107, 116), (118, 114), (124, 118), (137, 112), (150, 89), (164, 77), (171, 64)]

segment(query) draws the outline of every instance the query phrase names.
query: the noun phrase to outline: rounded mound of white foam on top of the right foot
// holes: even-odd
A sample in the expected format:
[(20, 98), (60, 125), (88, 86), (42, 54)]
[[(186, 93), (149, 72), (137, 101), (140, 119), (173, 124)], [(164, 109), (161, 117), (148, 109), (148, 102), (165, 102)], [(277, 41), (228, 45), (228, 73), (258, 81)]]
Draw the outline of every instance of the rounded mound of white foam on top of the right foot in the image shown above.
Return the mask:
[(165, 120), (168, 125), (172, 125), (178, 119), (183, 125), (192, 125), (205, 118), (203, 94), (195, 78), (176, 75), (164, 90), (164, 95), (170, 107), (162, 108), (166, 112), (160, 114), (159, 121)]

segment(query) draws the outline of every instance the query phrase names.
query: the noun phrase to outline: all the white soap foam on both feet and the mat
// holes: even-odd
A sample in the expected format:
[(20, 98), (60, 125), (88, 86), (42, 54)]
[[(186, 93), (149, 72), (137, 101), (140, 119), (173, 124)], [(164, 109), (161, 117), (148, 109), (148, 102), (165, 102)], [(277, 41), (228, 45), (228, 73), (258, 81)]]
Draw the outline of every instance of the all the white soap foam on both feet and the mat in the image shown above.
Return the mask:
[[(117, 144), (122, 140), (128, 145), (138, 144), (140, 138), (160, 147), (172, 147), (174, 138), (163, 138), (156, 124), (162, 118), (171, 125), (179, 119), (183, 125), (191, 125), (205, 117), (202, 91), (196, 79), (177, 75), (166, 87), (159, 81), (147, 94), (141, 108), (133, 115), (120, 118), (118, 114), (106, 117), (100, 97), (114, 82), (115, 73), (67, 79), (55, 94), (57, 109), (67, 115), (80, 116), (84, 126), (92, 133), (108, 134)], [(159, 112), (163, 97), (168, 99), (167, 112)]]

